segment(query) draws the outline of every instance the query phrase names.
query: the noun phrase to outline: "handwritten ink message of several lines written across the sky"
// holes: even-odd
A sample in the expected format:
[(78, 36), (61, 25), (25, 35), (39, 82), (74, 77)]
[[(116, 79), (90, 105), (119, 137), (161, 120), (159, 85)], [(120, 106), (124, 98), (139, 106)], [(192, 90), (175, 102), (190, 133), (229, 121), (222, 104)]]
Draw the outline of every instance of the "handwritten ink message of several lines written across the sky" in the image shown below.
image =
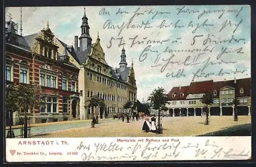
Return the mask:
[[(116, 8), (115, 8), (116, 9)], [(250, 71), (248, 6), (105, 7), (106, 47), (136, 51), (137, 62), (166, 77), (191, 79)], [(116, 21), (116, 19), (120, 21)], [(147, 71), (147, 70), (145, 70)]]

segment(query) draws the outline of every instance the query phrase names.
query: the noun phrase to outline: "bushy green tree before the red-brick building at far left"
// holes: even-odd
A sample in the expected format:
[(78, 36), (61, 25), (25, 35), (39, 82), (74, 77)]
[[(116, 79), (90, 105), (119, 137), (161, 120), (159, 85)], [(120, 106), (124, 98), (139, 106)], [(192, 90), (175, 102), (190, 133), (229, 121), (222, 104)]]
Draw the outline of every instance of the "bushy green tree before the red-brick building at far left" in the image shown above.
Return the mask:
[[(17, 109), (24, 110), (24, 138), (28, 137), (27, 112), (33, 110), (34, 107), (43, 105), (45, 102), (41, 98), (41, 89), (35, 84), (19, 83), (7, 88), (6, 94), (6, 109), (9, 112), (14, 112)], [(12, 118), (10, 118), (12, 119)]]

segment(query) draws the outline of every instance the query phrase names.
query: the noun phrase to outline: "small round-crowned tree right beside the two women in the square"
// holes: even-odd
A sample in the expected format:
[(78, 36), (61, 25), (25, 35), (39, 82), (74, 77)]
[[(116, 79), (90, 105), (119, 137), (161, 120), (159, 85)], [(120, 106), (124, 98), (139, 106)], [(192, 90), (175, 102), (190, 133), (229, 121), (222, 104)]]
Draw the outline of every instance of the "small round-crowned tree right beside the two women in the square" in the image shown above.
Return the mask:
[(160, 125), (160, 107), (168, 103), (168, 95), (163, 88), (158, 87), (147, 98), (151, 101), (154, 109), (158, 109), (158, 133), (162, 133), (162, 125)]

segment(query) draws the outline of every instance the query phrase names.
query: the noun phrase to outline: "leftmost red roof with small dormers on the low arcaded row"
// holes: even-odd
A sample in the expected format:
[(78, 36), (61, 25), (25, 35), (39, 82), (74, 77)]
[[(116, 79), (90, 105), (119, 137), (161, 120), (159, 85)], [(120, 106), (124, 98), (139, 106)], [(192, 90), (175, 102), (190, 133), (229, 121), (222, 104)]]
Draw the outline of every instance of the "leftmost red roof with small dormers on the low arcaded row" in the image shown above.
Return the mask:
[[(168, 93), (168, 100), (185, 100), (188, 89), (189, 86), (173, 87), (173, 89)], [(176, 94), (175, 97), (172, 96), (173, 93)], [(180, 96), (181, 93), (184, 93), (183, 97)]]

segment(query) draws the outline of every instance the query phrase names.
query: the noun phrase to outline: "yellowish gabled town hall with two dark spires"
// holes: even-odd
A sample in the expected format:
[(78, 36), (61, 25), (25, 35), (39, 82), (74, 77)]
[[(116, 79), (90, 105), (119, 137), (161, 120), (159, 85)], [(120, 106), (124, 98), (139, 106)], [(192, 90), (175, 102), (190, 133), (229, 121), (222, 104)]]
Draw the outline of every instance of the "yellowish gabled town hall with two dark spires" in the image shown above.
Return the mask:
[[(119, 68), (113, 68), (105, 61), (105, 53), (100, 45), (99, 34), (92, 43), (86, 11), (82, 17), (81, 35), (74, 37), (74, 46), (56, 38), (59, 50), (67, 48), (70, 61), (79, 68), (78, 88), (80, 92), (79, 119), (88, 119), (94, 112), (97, 115), (111, 116), (114, 113), (128, 112), (124, 109), (127, 101), (137, 101), (137, 87), (133, 62), (127, 66), (125, 49), (121, 50)], [(79, 46), (78, 46), (79, 39)], [(116, 57), (118, 59), (118, 57)], [(88, 107), (93, 95), (104, 100), (102, 108)], [(129, 112), (131, 112), (129, 110)]]

